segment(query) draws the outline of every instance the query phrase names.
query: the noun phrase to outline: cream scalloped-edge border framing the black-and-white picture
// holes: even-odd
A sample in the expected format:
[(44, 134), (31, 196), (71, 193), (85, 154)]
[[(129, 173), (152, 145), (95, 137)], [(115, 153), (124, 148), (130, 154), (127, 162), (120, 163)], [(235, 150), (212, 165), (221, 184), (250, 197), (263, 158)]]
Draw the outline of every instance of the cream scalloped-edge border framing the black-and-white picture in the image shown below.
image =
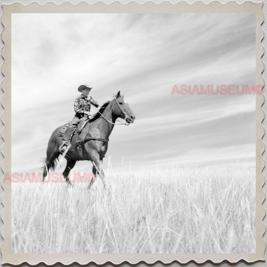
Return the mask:
[[(5, 27), (2, 33), (2, 40), (4, 42), (4, 48), (2, 50), (2, 56), (5, 62), (2, 66), (2, 72), (5, 79), (2, 84), (2, 88), (5, 94), (2, 98), (2, 104), (5, 111), (2, 115), (2, 120), (5, 124), (2, 131), (2, 136), (5, 140), (5, 144), (2, 148), (2, 153), (5, 159), (2, 163), (2, 169), (4, 173), (11, 172), (11, 14), (12, 13), (255, 13), (256, 14), (256, 85), (264, 84), (264, 80), (261, 76), (264, 65), (261, 57), (264, 53), (261, 40), (263, 39), (263, 31), (261, 24), (263, 22), (262, 13), (263, 3), (245, 2), (237, 4), (236, 2), (228, 2), (226, 4), (220, 4), (219, 2), (211, 2), (210, 4), (204, 4), (203, 2), (195, 2), (193, 4), (187, 4), (186, 2), (179, 2), (177, 4), (171, 4), (170, 2), (163, 2), (161, 4), (154, 4), (152, 2), (146, 2), (142, 5), (136, 2), (130, 2), (123, 5), (119, 2), (114, 2), (109, 5), (97, 2), (90, 5), (86, 2), (73, 5), (69, 2), (65, 2), (61, 5), (54, 3), (47, 3), (45, 5), (39, 5), (38, 3), (32, 3), (27, 6), (16, 3), (12, 5), (3, 5), (3, 17), (2, 23)], [(221, 262), (222, 260), (228, 260), (230, 262), (237, 262), (243, 259), (247, 262), (254, 262), (256, 260), (265, 260), (264, 250), (265, 242), (262, 238), (265, 232), (265, 226), (262, 219), (265, 215), (265, 210), (262, 206), (262, 202), (265, 199), (265, 194), (262, 190), (264, 184), (264, 176), (262, 169), (264, 167), (264, 160), (262, 153), (264, 151), (264, 144), (262, 142), (262, 136), (264, 134), (264, 128), (261, 124), (264, 118), (264, 112), (261, 108), (264, 102), (263, 95), (256, 95), (256, 253), (254, 254), (15, 254), (11, 253), (11, 184), (2, 183), (5, 193), (2, 196), (2, 203), (5, 208), (2, 212), (2, 219), (4, 226), (2, 228), (2, 236), (4, 242), (1, 246), (1, 252), (3, 256), (2, 263), (20, 264), (28, 262), (30, 264), (37, 264), (39, 262), (45, 262), (46, 264), (54, 264), (61, 262), (63, 264), (70, 264), (79, 262), (80, 264), (86, 264), (89, 262), (95, 262), (97, 264), (103, 264), (108, 261), (119, 264), (121, 262), (129, 262), (132, 264), (140, 261), (147, 263), (154, 263), (161, 261), (163, 263), (170, 263), (174, 260), (180, 263), (187, 263), (190, 260), (194, 260), (197, 263), (211, 260), (213, 262)]]

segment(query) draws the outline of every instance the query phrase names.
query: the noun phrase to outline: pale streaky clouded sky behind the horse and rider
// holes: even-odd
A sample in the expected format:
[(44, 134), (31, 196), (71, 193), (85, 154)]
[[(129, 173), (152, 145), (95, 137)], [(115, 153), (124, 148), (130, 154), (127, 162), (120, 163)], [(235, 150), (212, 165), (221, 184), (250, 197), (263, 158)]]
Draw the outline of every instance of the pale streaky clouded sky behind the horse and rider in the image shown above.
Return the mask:
[(254, 95), (171, 95), (255, 84), (253, 14), (12, 14), (13, 172), (40, 171), (82, 84), (100, 105), (121, 91), (136, 116), (104, 170), (255, 162)]

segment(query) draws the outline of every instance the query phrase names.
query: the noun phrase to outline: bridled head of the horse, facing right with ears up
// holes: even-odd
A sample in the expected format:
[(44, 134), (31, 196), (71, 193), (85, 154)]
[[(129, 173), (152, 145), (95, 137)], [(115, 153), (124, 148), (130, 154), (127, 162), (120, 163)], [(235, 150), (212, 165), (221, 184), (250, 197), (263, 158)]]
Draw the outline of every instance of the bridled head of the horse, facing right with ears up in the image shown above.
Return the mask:
[(125, 119), (127, 123), (133, 123), (135, 115), (129, 104), (123, 98), (123, 95), (121, 95), (119, 91), (114, 99), (115, 103), (113, 105), (113, 115), (118, 118)]

